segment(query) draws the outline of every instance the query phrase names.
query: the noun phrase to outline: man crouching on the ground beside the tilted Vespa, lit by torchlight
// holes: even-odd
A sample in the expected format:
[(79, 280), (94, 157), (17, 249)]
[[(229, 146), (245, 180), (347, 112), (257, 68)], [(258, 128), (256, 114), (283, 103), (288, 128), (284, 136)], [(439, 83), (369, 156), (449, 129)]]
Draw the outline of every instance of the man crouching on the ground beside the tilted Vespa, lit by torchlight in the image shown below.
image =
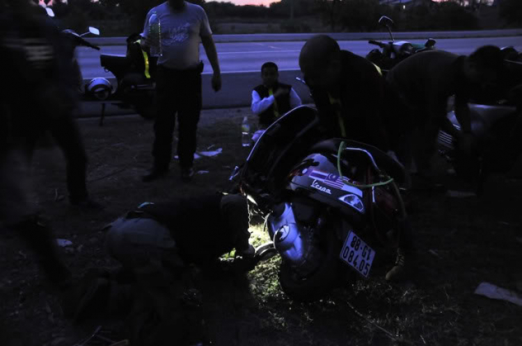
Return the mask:
[[(161, 333), (146, 331), (139, 322), (140, 316), (152, 314), (166, 323), (159, 327), (168, 326), (169, 333), (175, 329), (184, 338), (191, 323), (182, 300), (187, 286), (194, 284), (187, 281), (187, 273), (193, 265), (212, 271), (219, 257), (232, 249), (247, 262), (253, 260), (248, 224), (248, 203), (240, 195), (216, 193), (143, 203), (106, 227), (106, 248), (120, 262), (120, 269), (88, 271), (64, 307), (65, 315), (78, 321), (93, 311), (124, 313), (129, 316), (131, 340), (140, 340), (136, 341), (139, 345), (164, 345), (155, 339)], [(150, 338), (155, 335), (154, 340), (141, 340), (149, 334)], [(182, 345), (172, 339), (168, 342)]]

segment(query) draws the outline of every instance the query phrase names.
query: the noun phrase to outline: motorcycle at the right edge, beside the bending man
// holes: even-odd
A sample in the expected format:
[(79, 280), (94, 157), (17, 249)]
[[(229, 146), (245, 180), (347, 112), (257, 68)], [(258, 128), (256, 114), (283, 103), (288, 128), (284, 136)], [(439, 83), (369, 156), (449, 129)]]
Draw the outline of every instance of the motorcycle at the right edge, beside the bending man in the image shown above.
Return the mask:
[[(477, 195), (484, 192), (484, 183), (491, 174), (505, 174), (512, 169), (522, 152), (519, 137), (522, 133), (522, 55), (512, 47), (503, 49), (506, 60), (504, 90), (485, 95), (470, 106), (471, 131), (476, 146), (471, 156), (459, 154), (456, 139), (445, 131), (438, 134), (438, 151), (454, 167), (457, 176), (475, 181)], [(516, 86), (518, 85), (518, 86)], [(455, 129), (460, 125), (453, 110), (448, 119)]]

